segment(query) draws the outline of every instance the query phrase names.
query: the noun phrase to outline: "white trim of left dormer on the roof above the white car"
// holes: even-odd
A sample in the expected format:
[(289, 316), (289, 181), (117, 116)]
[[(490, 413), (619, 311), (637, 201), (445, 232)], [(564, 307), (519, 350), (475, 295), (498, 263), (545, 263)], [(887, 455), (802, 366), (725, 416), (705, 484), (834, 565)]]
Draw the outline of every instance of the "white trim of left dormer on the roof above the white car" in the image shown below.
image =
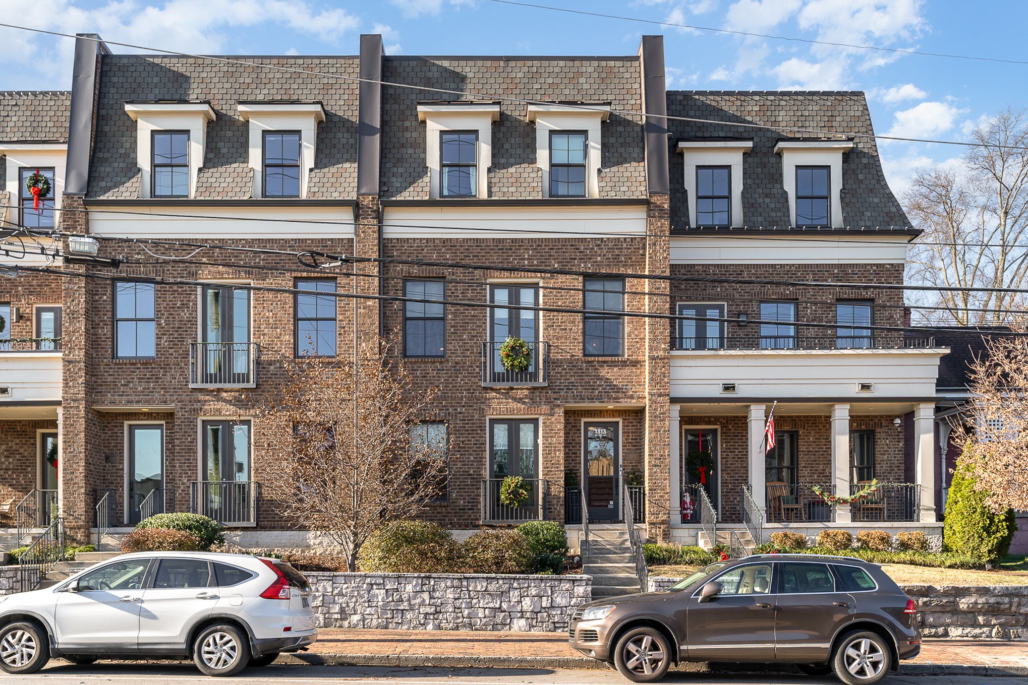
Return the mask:
[(189, 131), (189, 197), (196, 195), (196, 175), (207, 153), (207, 124), (217, 118), (207, 103), (125, 103), (125, 114), (136, 122), (136, 163), (141, 172), (139, 196), (153, 192), (152, 142), (155, 130)]

